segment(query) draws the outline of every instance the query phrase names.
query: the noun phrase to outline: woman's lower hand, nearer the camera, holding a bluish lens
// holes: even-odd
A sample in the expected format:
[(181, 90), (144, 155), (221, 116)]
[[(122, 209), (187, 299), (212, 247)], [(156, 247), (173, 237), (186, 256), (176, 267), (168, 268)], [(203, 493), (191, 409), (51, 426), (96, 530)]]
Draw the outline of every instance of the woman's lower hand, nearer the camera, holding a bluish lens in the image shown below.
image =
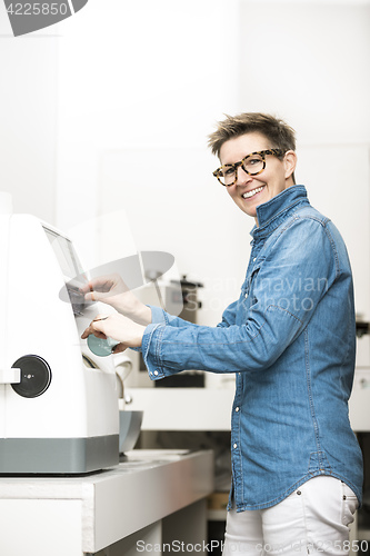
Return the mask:
[(90, 334), (98, 338), (109, 336), (120, 342), (113, 350), (119, 353), (128, 347), (141, 347), (144, 329), (143, 325), (138, 325), (119, 312), (109, 316), (98, 315), (82, 332), (81, 338), (86, 339)]

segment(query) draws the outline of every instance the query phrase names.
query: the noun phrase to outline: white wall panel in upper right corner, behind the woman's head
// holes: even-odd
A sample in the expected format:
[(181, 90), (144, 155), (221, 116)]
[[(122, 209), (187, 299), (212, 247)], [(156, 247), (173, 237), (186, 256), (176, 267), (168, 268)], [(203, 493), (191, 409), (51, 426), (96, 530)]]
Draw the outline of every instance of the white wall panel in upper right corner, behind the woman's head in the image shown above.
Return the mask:
[(370, 141), (370, 2), (240, 2), (240, 105), (271, 111), (299, 146)]

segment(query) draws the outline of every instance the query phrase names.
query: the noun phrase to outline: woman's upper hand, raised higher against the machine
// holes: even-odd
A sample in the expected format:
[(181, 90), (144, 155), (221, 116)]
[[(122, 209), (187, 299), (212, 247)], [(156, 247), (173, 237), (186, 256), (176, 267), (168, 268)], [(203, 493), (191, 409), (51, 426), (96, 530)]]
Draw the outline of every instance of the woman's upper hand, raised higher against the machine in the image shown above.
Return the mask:
[(127, 287), (120, 275), (112, 274), (93, 278), (81, 291), (87, 301), (101, 301), (140, 325), (151, 322), (151, 309), (143, 305)]

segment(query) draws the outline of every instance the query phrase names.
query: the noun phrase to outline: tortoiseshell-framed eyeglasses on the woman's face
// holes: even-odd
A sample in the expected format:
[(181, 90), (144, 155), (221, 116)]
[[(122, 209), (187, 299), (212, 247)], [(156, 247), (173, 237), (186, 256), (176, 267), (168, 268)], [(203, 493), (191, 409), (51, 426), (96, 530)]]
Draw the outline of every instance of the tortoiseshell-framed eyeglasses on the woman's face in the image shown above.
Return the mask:
[(267, 149), (259, 150), (247, 155), (240, 162), (234, 165), (223, 165), (214, 170), (213, 176), (219, 180), (222, 186), (233, 186), (238, 179), (238, 168), (244, 170), (249, 176), (258, 176), (266, 168), (266, 155), (273, 155), (274, 157), (282, 157), (284, 151), (281, 149)]

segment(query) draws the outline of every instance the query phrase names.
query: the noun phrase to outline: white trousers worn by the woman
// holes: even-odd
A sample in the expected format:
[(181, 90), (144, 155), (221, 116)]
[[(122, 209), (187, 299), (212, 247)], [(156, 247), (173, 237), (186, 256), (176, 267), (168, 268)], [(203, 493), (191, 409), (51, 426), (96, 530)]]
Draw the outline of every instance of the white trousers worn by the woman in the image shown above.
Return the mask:
[(348, 555), (357, 507), (344, 483), (314, 477), (270, 508), (228, 512), (222, 555)]

